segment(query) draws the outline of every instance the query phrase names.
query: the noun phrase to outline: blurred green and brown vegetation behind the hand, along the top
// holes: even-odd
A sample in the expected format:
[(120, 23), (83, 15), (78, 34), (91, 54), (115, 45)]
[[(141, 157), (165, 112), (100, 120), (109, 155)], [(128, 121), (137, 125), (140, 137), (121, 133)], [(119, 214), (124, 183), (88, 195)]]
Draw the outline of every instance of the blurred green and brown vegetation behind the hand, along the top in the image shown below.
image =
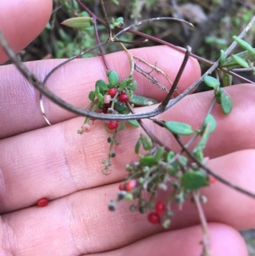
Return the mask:
[[(82, 1), (98, 17), (103, 18), (99, 0)], [(249, 23), (255, 13), (255, 2), (247, 0), (106, 0), (106, 11), (109, 20), (124, 18), (124, 27), (143, 19), (156, 17), (177, 17), (187, 20), (196, 27), (171, 20), (149, 22), (135, 27), (135, 30), (150, 34), (180, 47), (190, 45), (193, 53), (210, 61), (219, 57), (219, 51), (226, 50), (231, 44), (232, 36), (238, 35)], [(89, 16), (76, 0), (54, 0), (52, 17), (44, 31), (25, 50), (20, 52), (22, 61), (33, 61), (50, 58), (69, 58), (96, 45), (94, 27), (87, 29), (71, 29), (61, 25), (63, 20), (71, 17)], [(100, 40), (105, 41), (108, 33), (102, 24), (98, 23)], [(119, 38), (124, 41), (142, 41), (135, 34), (124, 33)], [(255, 45), (255, 26), (247, 33), (245, 40)], [(149, 47), (158, 45), (155, 41), (134, 47)], [(105, 53), (122, 50), (119, 43), (109, 43), (104, 48)], [(240, 49), (235, 49), (238, 52)], [(94, 50), (82, 57), (99, 56), (99, 50)], [(202, 72), (208, 66), (201, 63)], [(254, 80), (252, 72), (242, 73), (247, 79)], [(240, 83), (233, 79), (233, 84)], [(203, 88), (203, 89), (202, 89)], [(200, 86), (197, 91), (207, 88)]]

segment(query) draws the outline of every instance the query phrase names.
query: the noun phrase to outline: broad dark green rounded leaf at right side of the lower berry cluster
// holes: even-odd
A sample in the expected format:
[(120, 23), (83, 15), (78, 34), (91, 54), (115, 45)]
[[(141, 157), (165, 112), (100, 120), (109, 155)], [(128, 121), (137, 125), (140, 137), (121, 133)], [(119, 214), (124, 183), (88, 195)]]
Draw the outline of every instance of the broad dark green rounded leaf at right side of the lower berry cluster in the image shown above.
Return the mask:
[(187, 190), (197, 190), (203, 186), (208, 186), (206, 174), (198, 170), (184, 173), (181, 181)]

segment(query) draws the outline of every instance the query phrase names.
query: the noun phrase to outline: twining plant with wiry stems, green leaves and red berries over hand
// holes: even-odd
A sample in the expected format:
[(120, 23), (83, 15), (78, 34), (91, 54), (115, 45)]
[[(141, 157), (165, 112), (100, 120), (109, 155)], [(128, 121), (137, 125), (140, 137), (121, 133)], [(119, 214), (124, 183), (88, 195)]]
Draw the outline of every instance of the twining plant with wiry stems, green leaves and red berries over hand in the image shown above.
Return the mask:
[[(47, 77), (45, 77), (43, 84), (41, 84), (35, 77), (32, 77), (31, 73), (27, 72), (25, 75), (27, 79), (34, 84), (34, 86), (40, 89), (41, 96), (42, 94), (45, 94), (62, 107), (85, 116), (84, 123), (78, 127), (77, 136), (86, 136), (86, 133), (93, 132), (93, 122), (97, 119), (106, 120), (104, 121), (102, 128), (105, 129), (106, 133), (109, 135), (108, 139), (105, 141), (105, 143), (109, 144), (109, 151), (105, 159), (99, 160), (102, 163), (102, 169), (99, 171), (104, 175), (109, 175), (111, 173), (111, 159), (118, 157), (117, 147), (118, 144), (122, 143), (118, 139), (118, 133), (125, 131), (126, 123), (135, 126), (135, 128), (140, 127), (144, 130), (144, 133), (140, 135), (136, 144), (134, 144), (134, 153), (138, 156), (138, 160), (134, 161), (131, 159), (129, 163), (123, 165), (123, 168), (125, 168), (127, 172), (126, 178), (119, 184), (119, 191), (116, 191), (116, 198), (110, 200), (108, 203), (108, 209), (110, 211), (116, 211), (118, 204), (126, 201), (129, 204), (127, 207), (129, 207), (130, 211), (138, 211), (139, 213), (145, 214), (150, 223), (154, 225), (161, 225), (164, 229), (168, 229), (171, 226), (172, 216), (175, 214), (172, 210), (173, 204), (178, 204), (179, 208), (182, 209), (182, 206), (187, 200), (192, 200), (199, 208), (200, 204), (207, 202), (206, 197), (200, 193), (201, 188), (210, 186), (217, 180), (231, 186), (231, 183), (226, 179), (208, 169), (208, 158), (205, 156), (205, 148), (208, 140), (210, 140), (210, 135), (217, 127), (215, 118), (211, 114), (214, 105), (221, 105), (222, 113), (224, 115), (231, 115), (233, 105), (231, 97), (226, 92), (225, 87), (231, 86), (232, 76), (236, 75), (235, 70), (245, 68), (254, 72), (255, 49), (247, 43), (247, 41), (243, 40), (242, 36), (244, 36), (245, 31), (249, 30), (249, 27), (251, 27), (255, 21), (252, 20), (247, 26), (247, 29), (245, 29), (245, 31), (239, 36), (233, 36), (233, 44), (228, 50), (221, 50), (219, 52), (219, 60), (217, 62), (212, 64), (210, 61), (205, 61), (206, 64), (211, 66), (208, 72), (198, 79), (198, 81), (196, 81), (189, 89), (184, 91), (184, 93), (173, 98), (173, 93), (178, 93), (177, 84), (189, 56), (192, 55), (190, 47), (187, 47), (186, 50), (175, 47), (175, 49), (185, 52), (185, 56), (182, 66), (180, 66), (179, 73), (177, 74), (177, 78), (175, 81), (171, 82), (168, 79), (168, 75), (164, 73), (163, 70), (157, 68), (155, 63), (147, 63), (143, 59), (133, 56), (124, 46), (124, 43), (134, 42), (119, 40), (119, 36), (128, 30), (129, 32), (136, 33), (136, 31), (130, 30), (134, 26), (139, 26), (144, 22), (155, 22), (156, 20), (158, 21), (160, 19), (170, 18), (143, 20), (131, 26), (122, 28), (125, 23), (123, 17), (118, 17), (117, 19), (112, 18), (109, 21), (103, 0), (100, 1), (105, 18), (103, 21), (96, 17), (96, 15), (94, 15), (94, 13), (92, 13), (92, 11), (89, 10), (89, 8), (87, 8), (81, 1), (73, 2), (80, 4), (87, 14), (79, 15), (79, 13), (77, 13), (77, 17), (64, 20), (62, 22), (63, 25), (73, 27), (75, 29), (87, 29), (94, 26), (94, 33), (98, 34), (95, 22), (100, 21), (106, 29), (108, 29), (108, 40), (101, 42), (97, 36), (97, 45), (75, 56), (80, 57), (99, 48), (105, 64), (107, 80), (99, 79), (96, 81), (94, 89), (86, 95), (90, 100), (89, 105), (84, 106), (84, 109), (81, 110), (63, 102), (57, 96), (48, 91), (47, 87), (45, 87), (47, 86), (46, 82), (48, 77), (50, 77), (57, 68), (61, 68), (63, 64), (75, 59), (75, 57), (71, 57), (71, 59), (68, 59), (55, 67), (54, 70), (48, 73)], [(76, 4), (73, 4), (73, 8), (76, 8), (75, 10), (77, 10)], [(153, 38), (147, 34), (143, 34), (143, 36), (147, 39), (157, 41), (157, 38)], [(3, 41), (3, 38), (1, 40)], [(143, 43), (145, 41), (143, 41)], [(101, 47), (108, 43), (119, 43), (122, 49), (126, 52), (131, 72), (125, 79), (120, 79), (119, 74), (115, 70), (112, 70), (105, 59), (103, 49)], [(161, 43), (174, 47), (164, 41), (161, 41)], [(244, 51), (230, 56), (231, 50), (237, 44)], [(2, 45), (4, 44), (2, 43)], [(199, 59), (199, 57), (194, 54), (192, 56)], [(139, 66), (139, 62), (142, 62), (151, 70), (149, 72), (145, 71)], [(18, 66), (18, 68), (20, 68), (20, 66)], [(20, 68), (20, 70), (22, 69)], [(23, 70), (25, 70), (25, 68), (23, 68)], [(136, 114), (133, 108), (136, 106), (154, 105), (158, 102), (152, 98), (136, 94), (136, 89), (140, 85), (134, 79), (135, 72), (145, 76), (149, 82), (154, 84), (154, 86), (158, 86), (162, 90), (168, 92), (163, 103), (161, 103), (156, 110), (152, 110), (152, 112), (148, 112), (147, 114)], [(153, 76), (153, 72), (163, 75), (171, 84), (171, 88), (168, 90), (166, 89), (166, 86), (160, 84)], [(215, 72), (215, 76), (212, 75), (212, 72)], [(31, 77), (33, 79), (31, 79)], [(220, 80), (219, 77), (222, 77), (222, 80)], [(189, 123), (180, 123), (174, 120), (159, 120), (154, 118), (154, 116), (164, 112), (184, 98), (184, 96), (186, 96), (192, 89), (196, 88), (202, 81), (205, 82), (208, 87), (212, 88), (214, 99), (212, 100), (212, 103), (208, 108), (207, 115), (204, 117), (199, 128), (195, 128)], [(40, 103), (42, 105), (41, 96)], [(47, 116), (45, 115), (44, 109), (42, 108), (41, 110), (48, 124), (50, 124), (50, 121), (48, 121)], [(172, 135), (180, 144), (180, 151), (175, 152), (171, 150), (168, 145), (157, 139), (157, 137), (153, 135), (143, 123), (143, 118), (150, 118), (152, 122), (158, 125), (158, 129), (162, 129), (166, 134)], [(188, 140), (186, 144), (183, 142), (183, 137), (187, 138), (186, 141)], [(255, 195), (242, 188), (238, 188), (237, 186), (235, 186), (235, 188), (240, 192), (255, 197)], [(166, 193), (166, 197), (164, 197), (165, 200), (161, 200), (157, 197), (160, 191)], [(205, 222), (203, 221), (205, 220), (205, 216), (201, 211), (198, 211), (198, 213), (201, 225), (203, 225), (203, 236), (207, 237), (208, 230), (205, 226)], [(203, 251), (207, 253), (205, 253), (205, 255), (208, 255), (210, 248), (208, 248), (206, 243), (204, 243), (203, 246)]]

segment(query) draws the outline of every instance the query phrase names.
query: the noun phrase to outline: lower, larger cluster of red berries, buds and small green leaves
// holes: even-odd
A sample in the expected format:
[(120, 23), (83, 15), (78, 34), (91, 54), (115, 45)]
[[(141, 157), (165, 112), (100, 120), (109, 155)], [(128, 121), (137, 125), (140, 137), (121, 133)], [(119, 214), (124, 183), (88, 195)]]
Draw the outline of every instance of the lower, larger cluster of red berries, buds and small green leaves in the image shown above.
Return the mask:
[[(144, 156), (139, 153), (140, 145), (149, 151)], [(145, 135), (141, 135), (135, 151), (140, 155), (140, 160), (126, 165), (129, 175), (124, 183), (119, 184), (117, 199), (110, 201), (108, 209), (111, 211), (116, 209), (120, 200), (137, 200), (136, 204), (131, 204), (130, 211), (149, 211), (148, 221), (167, 229), (173, 216), (173, 202), (182, 208), (185, 200), (191, 198), (191, 192), (215, 182), (213, 177), (208, 176), (197, 165), (189, 164), (186, 156), (166, 151), (164, 147), (155, 148)], [(167, 202), (157, 200), (154, 204), (157, 191), (167, 192), (170, 187), (172, 192)], [(203, 195), (200, 196), (200, 202), (206, 201)]]

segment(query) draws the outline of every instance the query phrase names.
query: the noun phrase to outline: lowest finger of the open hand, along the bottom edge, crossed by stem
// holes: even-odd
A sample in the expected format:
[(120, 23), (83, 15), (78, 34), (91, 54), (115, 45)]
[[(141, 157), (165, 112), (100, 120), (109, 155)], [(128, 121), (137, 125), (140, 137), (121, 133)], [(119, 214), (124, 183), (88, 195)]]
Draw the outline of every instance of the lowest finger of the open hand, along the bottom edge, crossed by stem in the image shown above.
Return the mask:
[[(247, 256), (244, 239), (237, 230), (219, 223), (209, 223), (208, 228), (212, 255)], [(92, 256), (197, 256), (201, 255), (202, 251), (200, 245), (201, 233), (200, 226), (164, 232), (142, 239), (124, 248), (110, 252), (94, 253)]]

